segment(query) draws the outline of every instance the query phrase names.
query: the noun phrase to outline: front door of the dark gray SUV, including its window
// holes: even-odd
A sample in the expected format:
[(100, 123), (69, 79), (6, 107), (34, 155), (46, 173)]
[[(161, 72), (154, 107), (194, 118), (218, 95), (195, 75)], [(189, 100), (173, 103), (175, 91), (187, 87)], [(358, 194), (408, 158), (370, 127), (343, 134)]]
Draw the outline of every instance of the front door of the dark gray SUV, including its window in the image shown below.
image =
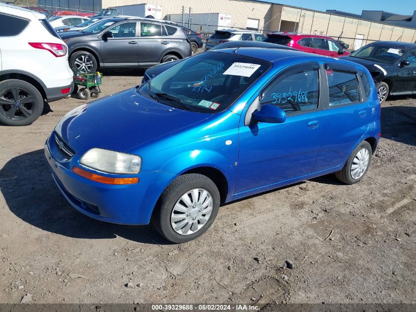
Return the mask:
[(101, 58), (105, 67), (137, 66), (137, 23), (120, 23), (109, 31), (112, 38), (102, 38)]

